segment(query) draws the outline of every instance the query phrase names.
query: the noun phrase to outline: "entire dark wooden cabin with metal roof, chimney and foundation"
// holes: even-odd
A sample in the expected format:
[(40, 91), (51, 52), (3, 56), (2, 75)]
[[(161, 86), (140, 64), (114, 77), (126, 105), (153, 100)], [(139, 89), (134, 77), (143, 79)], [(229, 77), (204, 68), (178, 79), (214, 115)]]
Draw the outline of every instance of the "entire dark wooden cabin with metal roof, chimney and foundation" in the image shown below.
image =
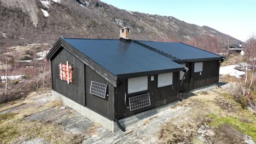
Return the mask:
[(46, 58), (53, 97), (111, 131), (173, 104), (179, 92), (217, 85), (224, 59), (182, 43), (132, 40), (129, 28), (120, 39), (61, 37)]

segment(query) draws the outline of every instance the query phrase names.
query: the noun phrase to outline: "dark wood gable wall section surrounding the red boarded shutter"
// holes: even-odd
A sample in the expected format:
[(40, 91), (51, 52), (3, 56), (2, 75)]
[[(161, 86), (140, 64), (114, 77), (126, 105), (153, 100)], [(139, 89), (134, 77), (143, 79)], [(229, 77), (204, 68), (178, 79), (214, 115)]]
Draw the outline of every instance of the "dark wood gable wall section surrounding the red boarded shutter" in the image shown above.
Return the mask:
[[(60, 79), (59, 63), (72, 64), (72, 83)], [(84, 63), (80, 62), (65, 49), (60, 49), (55, 57), (51, 59), (53, 90), (65, 97), (85, 106), (85, 76)]]

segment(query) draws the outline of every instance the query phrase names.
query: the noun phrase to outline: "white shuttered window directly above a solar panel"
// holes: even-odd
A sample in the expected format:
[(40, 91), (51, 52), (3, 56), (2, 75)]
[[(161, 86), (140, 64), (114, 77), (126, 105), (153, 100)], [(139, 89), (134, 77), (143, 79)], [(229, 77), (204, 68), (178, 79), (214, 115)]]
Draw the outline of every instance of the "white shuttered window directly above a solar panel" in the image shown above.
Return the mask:
[(148, 90), (148, 77), (136, 77), (128, 79), (128, 93), (135, 93)]

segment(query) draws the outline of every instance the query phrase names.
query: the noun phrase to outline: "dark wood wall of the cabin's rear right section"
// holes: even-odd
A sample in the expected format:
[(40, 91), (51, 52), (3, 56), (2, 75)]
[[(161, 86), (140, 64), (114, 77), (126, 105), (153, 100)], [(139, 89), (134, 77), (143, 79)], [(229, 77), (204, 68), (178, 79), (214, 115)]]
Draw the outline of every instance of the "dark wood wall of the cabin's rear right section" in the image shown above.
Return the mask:
[(203, 61), (203, 71), (194, 73), (194, 63), (191, 63), (190, 90), (208, 86), (218, 82), (219, 61)]

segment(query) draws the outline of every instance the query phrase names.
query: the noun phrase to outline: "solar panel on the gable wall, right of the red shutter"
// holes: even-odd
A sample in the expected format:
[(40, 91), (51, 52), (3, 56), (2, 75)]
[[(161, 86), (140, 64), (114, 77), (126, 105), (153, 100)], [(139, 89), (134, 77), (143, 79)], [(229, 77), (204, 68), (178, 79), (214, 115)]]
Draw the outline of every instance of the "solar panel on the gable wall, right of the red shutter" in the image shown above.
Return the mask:
[(107, 85), (95, 81), (91, 81), (90, 93), (97, 95), (98, 97), (105, 98), (107, 91)]

